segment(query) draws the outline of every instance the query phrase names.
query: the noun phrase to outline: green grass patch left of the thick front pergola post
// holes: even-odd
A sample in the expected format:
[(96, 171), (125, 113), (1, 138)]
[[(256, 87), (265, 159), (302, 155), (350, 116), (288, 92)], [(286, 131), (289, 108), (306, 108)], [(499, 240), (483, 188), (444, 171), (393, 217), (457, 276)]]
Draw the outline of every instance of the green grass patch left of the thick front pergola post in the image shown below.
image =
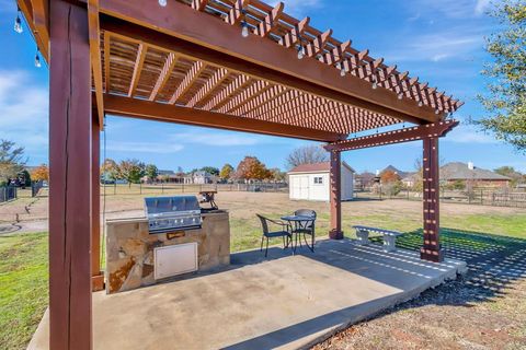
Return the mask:
[(47, 305), (47, 233), (0, 236), (0, 349), (25, 349)]

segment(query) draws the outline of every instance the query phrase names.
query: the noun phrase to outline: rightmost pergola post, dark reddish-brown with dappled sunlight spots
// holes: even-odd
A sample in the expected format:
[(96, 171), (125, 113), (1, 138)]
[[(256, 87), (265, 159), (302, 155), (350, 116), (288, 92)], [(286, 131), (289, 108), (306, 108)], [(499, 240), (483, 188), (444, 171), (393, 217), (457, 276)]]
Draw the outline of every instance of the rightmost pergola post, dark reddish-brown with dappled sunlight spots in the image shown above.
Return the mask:
[(438, 138), (424, 138), (423, 143), (424, 245), (420, 249), (420, 257), (423, 260), (441, 262), (444, 260), (444, 250), (439, 240)]

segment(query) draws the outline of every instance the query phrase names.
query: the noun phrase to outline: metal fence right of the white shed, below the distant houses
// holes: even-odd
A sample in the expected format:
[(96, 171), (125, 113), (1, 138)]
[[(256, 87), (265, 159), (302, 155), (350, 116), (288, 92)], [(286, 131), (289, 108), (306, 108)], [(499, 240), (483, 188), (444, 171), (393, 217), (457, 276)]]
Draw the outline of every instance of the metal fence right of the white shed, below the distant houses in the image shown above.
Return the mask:
[[(356, 191), (358, 199), (407, 199), (422, 200), (422, 194), (402, 189), (397, 195), (386, 195), (370, 190)], [(465, 203), (494, 207), (526, 208), (526, 192), (518, 190), (495, 190), (492, 188), (474, 188), (470, 190), (441, 189), (441, 202)]]

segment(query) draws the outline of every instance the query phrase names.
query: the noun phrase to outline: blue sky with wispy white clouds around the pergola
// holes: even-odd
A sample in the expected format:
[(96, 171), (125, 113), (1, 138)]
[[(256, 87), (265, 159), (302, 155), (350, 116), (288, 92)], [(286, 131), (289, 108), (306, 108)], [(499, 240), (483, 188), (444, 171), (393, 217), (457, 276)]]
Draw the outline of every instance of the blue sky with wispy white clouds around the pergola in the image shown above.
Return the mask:
[[(153, 0), (152, 0), (153, 2)], [(272, 1), (270, 1), (272, 2)], [(494, 23), (484, 13), (489, 0), (284, 0), (287, 12), (309, 15), (313, 26), (333, 28), (342, 40), (398, 65), (401, 71), (428, 81), (466, 102), (456, 118), (478, 118), (483, 110), (476, 100), (483, 91), (484, 36)], [(15, 2), (0, 0), (0, 139), (24, 145), (30, 164), (47, 163), (48, 71), (33, 65), (35, 44), (13, 31)], [(188, 171), (204, 165), (235, 166), (247, 154), (270, 167), (285, 167), (286, 155), (306, 141), (206, 128), (108, 117), (106, 155), (136, 158), (160, 168)], [(375, 171), (388, 164), (412, 170), (421, 156), (421, 143), (404, 143), (346, 152), (343, 159), (357, 171)], [(466, 124), (441, 140), (443, 162), (472, 161), (479, 167), (512, 165), (526, 172), (525, 156), (491, 135)]]

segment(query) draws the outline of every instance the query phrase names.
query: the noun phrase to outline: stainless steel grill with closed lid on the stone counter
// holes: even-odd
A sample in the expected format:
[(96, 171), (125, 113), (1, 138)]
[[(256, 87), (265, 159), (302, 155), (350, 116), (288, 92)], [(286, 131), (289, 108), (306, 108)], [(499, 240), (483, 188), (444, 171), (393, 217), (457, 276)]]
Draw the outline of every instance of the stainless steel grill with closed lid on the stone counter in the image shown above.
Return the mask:
[(145, 198), (150, 234), (201, 229), (201, 208), (195, 196)]

